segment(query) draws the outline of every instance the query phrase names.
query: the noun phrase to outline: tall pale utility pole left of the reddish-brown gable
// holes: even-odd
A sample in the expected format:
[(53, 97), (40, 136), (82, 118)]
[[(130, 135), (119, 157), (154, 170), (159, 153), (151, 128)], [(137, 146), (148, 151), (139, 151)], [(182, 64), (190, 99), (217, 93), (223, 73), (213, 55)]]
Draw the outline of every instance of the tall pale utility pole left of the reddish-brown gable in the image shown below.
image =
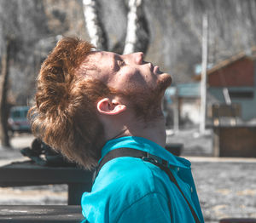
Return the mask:
[(208, 44), (208, 17), (203, 14), (202, 17), (202, 48), (201, 48), (201, 122), (200, 133), (206, 131), (206, 113), (207, 113), (207, 44)]

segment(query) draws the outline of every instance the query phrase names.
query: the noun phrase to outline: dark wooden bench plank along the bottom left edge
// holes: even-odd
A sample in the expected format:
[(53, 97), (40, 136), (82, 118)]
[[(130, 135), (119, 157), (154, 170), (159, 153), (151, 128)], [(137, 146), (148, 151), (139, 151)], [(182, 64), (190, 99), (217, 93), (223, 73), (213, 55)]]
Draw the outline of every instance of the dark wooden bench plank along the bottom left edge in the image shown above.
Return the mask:
[(79, 205), (0, 205), (0, 223), (80, 223)]

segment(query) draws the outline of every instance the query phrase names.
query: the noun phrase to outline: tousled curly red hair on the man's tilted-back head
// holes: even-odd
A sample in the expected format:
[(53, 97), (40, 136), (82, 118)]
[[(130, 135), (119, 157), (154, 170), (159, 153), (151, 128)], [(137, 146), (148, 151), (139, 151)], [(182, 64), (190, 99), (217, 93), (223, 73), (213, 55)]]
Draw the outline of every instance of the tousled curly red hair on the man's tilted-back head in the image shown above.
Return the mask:
[(36, 104), (28, 116), (36, 137), (86, 169), (96, 165), (105, 143), (96, 100), (111, 93), (81, 70), (92, 48), (73, 37), (57, 43), (39, 72)]

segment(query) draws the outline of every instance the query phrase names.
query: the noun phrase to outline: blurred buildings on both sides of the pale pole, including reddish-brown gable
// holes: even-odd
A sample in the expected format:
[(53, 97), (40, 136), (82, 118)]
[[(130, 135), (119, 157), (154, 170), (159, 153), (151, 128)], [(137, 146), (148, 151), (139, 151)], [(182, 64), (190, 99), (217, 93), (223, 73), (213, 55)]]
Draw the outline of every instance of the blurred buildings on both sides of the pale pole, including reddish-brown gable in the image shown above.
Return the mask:
[[(196, 83), (177, 83), (166, 90), (166, 126), (172, 128), (177, 112), (179, 127), (200, 123), (201, 69)], [(250, 123), (256, 120), (256, 47), (217, 65), (207, 66), (207, 126)], [(220, 123), (222, 122), (222, 123)]]

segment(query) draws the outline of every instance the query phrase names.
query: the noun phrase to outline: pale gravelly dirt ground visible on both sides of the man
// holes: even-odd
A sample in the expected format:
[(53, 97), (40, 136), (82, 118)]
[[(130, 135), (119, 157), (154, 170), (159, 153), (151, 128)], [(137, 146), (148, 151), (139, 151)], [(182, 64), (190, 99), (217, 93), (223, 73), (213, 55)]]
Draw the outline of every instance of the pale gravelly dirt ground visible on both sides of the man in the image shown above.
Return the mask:
[[(25, 139), (21, 141), (24, 146)], [(184, 144), (182, 156), (191, 160), (206, 222), (215, 223), (228, 217), (256, 218), (256, 159), (212, 158), (211, 133), (200, 135), (195, 130), (171, 133), (167, 142)], [(17, 147), (12, 152), (0, 149), (0, 164), (22, 158)], [(67, 186), (0, 188), (0, 204), (67, 204)]]

